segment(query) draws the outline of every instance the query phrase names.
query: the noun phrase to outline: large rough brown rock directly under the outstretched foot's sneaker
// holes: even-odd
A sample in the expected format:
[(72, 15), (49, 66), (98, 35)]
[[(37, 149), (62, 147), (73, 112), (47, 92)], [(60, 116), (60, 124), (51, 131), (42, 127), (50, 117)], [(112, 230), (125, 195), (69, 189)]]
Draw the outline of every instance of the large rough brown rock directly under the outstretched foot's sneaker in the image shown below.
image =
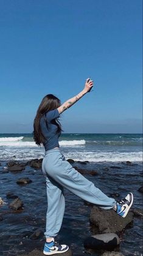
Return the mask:
[(93, 206), (89, 220), (98, 228), (99, 233), (117, 233), (133, 221), (133, 213), (130, 211), (125, 218), (122, 218), (113, 209), (105, 210)]

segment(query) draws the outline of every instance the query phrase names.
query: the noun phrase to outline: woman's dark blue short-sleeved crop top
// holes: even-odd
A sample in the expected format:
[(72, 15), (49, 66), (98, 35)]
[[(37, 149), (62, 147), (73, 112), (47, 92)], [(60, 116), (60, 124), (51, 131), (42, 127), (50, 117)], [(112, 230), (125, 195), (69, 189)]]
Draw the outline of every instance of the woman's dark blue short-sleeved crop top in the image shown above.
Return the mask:
[[(55, 108), (54, 110), (48, 111), (40, 119), (41, 132), (46, 138), (46, 140), (43, 143), (45, 151), (55, 148), (56, 146), (59, 146), (58, 137), (60, 137), (61, 133), (58, 132), (58, 134), (56, 134), (57, 126), (56, 124), (54, 124), (54, 119), (59, 117), (60, 117), (60, 114), (58, 113), (57, 108)], [(46, 121), (47, 121), (47, 126), (46, 126)]]

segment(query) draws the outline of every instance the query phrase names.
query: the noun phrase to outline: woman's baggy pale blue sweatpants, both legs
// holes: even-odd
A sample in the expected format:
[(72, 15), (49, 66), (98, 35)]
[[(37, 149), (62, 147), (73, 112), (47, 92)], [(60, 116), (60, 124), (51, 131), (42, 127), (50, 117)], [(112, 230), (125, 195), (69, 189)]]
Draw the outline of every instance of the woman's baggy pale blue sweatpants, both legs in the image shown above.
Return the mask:
[(45, 152), (42, 171), (46, 178), (47, 190), (46, 232), (44, 232), (46, 238), (55, 237), (60, 231), (65, 212), (63, 187), (103, 209), (111, 209), (116, 204), (113, 198), (107, 197), (94, 183), (78, 173), (66, 161), (60, 148)]

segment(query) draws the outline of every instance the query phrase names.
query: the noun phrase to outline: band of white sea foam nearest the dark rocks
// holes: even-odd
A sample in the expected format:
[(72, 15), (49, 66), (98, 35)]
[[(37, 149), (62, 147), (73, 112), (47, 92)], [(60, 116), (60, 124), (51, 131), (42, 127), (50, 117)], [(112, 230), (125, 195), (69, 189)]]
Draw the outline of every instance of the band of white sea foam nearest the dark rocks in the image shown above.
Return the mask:
[[(122, 151), (85, 151), (82, 149), (67, 150), (61, 147), (61, 151), (66, 159), (88, 160), (89, 162), (142, 162), (142, 151), (122, 152)], [(29, 160), (44, 157), (44, 148), (5, 148), (0, 151), (0, 160)]]

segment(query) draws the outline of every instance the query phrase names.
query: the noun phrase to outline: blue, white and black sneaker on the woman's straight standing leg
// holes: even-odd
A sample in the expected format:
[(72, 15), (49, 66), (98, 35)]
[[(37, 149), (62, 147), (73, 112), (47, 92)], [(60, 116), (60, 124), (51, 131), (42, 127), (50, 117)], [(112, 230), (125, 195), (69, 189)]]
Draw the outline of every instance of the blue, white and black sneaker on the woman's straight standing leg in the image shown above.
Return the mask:
[(50, 243), (45, 242), (43, 254), (53, 255), (53, 254), (62, 254), (69, 249), (69, 246), (66, 244), (58, 244), (56, 241), (51, 241)]

